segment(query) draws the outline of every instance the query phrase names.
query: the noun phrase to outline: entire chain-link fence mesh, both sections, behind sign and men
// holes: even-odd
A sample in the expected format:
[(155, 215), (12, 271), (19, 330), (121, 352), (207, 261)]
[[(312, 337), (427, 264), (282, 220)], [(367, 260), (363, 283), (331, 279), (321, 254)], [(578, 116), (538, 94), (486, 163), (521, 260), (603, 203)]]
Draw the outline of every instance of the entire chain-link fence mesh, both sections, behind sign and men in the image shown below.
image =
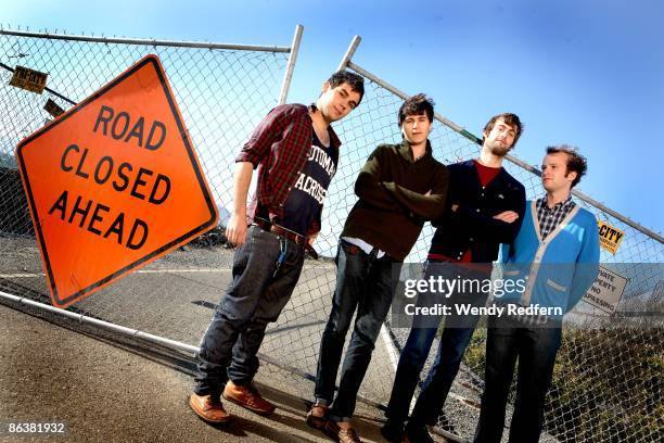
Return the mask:
[[(13, 150), (22, 138), (51, 118), (43, 110), (48, 99), (69, 109), (141, 56), (156, 53), (176, 93), (224, 225), (228, 219), (224, 205), (231, 202), (233, 157), (260, 118), (277, 104), (288, 63), (288, 48), (256, 51), (60, 37), (26, 37), (11, 31), (0, 35), (0, 289), (46, 303), (46, 280)], [(8, 86), (15, 65), (49, 73), (49, 90), (38, 96)], [(356, 201), (353, 188), (357, 173), (378, 144), (400, 141), (397, 111), (403, 93), (354, 63), (348, 66), (367, 78), (367, 92), (361, 105), (335, 125), (344, 144), (316, 242), (321, 258), (306, 262), (295, 293), (279, 321), (268, 329), (261, 347), (264, 357), (298, 377), (311, 378), (316, 372), (335, 286), (333, 257), (339, 235)], [(436, 159), (449, 164), (478, 154), (472, 135), (437, 118), (430, 136)], [(525, 186), (528, 198), (540, 197), (536, 172), (514, 161), (506, 162), (506, 168)], [(664, 328), (656, 314), (662, 311), (664, 284), (659, 280), (659, 265), (664, 262), (662, 239), (588, 201), (577, 199), (598, 219), (625, 232), (618, 251), (611, 254), (602, 250), (601, 261), (629, 281), (612, 316), (586, 305), (583, 321), (565, 322), (542, 440), (660, 441), (664, 434)], [(432, 236), (433, 229), (426, 225), (407, 262), (425, 260)], [(231, 261), (231, 251), (224, 246), (222, 230), (218, 230), (69, 311), (195, 344), (230, 279)], [(627, 316), (635, 311), (655, 315)], [(386, 404), (398, 350), (407, 336), (407, 329), (391, 327), (390, 322), (382, 331), (361, 388), (365, 400)], [(486, 329), (477, 328), (445, 406), (454, 426), (452, 438), (468, 439), (474, 431), (485, 338)], [(433, 354), (432, 351), (427, 367)]]

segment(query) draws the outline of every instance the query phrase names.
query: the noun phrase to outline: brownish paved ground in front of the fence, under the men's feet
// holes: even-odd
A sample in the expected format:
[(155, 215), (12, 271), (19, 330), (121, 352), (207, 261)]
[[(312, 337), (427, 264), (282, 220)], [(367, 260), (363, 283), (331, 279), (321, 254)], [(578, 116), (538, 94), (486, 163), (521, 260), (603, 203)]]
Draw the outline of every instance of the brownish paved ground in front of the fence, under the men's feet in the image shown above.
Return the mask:
[[(133, 350), (135, 351), (135, 350)], [(310, 383), (264, 368), (258, 383), (278, 410), (259, 417), (235, 405), (227, 428), (189, 409), (188, 368), (0, 305), (0, 422), (64, 422), (64, 435), (0, 434), (2, 442), (325, 442), (304, 423)], [(270, 388), (266, 385), (269, 382)], [(380, 441), (376, 412), (358, 408), (358, 430)], [(7, 427), (4, 427), (7, 429)]]

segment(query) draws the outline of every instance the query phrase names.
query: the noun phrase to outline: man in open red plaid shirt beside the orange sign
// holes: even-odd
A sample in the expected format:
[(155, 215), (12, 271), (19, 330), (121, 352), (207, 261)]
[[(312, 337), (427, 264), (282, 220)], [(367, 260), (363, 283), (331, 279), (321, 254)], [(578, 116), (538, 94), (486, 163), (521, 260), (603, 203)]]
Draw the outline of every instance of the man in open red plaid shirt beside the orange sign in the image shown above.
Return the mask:
[[(330, 126), (362, 99), (363, 79), (340, 71), (323, 84), (316, 104), (284, 104), (260, 122), (235, 159), (233, 213), (226, 237), (238, 245), (232, 281), (201, 340), (191, 408), (203, 420), (229, 420), (220, 394), (257, 414), (274, 405), (253, 384), (256, 354), (299, 278), (305, 250), (320, 230), (322, 201), (336, 170), (341, 141)], [(247, 213), (254, 168), (257, 192)], [(247, 225), (251, 227), (247, 228)]]

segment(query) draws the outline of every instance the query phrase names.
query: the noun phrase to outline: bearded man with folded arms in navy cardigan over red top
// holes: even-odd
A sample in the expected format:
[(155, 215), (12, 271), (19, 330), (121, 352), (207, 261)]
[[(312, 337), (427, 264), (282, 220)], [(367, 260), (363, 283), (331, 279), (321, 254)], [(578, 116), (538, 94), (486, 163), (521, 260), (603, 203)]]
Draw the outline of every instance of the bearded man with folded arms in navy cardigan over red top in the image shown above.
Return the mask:
[[(522, 132), (523, 125), (515, 114), (495, 115), (484, 127), (480, 157), (448, 165), (447, 211), (434, 221), (437, 229), (429, 250), (424, 279), (454, 279), (460, 275), (469, 281), (482, 281), (490, 275), (491, 262), (498, 257), (500, 243), (516, 237), (525, 211), (525, 190), (502, 167), (502, 161)], [(422, 293), (418, 305), (444, 302), (478, 307), (485, 305), (487, 298), (486, 293), (472, 291), (447, 295)], [(433, 442), (426, 427), (435, 425), (442, 416), (443, 405), (478, 320), (474, 315), (446, 317), (434, 365), (408, 419), (420, 372), (442, 320), (442, 316), (423, 317), (413, 318), (399, 357), (385, 413), (387, 422), (381, 429), (383, 436), (391, 442), (400, 442), (404, 433), (412, 443)], [(404, 428), (407, 419), (408, 425)], [(454, 430), (446, 423), (446, 418), (443, 420), (448, 431)]]

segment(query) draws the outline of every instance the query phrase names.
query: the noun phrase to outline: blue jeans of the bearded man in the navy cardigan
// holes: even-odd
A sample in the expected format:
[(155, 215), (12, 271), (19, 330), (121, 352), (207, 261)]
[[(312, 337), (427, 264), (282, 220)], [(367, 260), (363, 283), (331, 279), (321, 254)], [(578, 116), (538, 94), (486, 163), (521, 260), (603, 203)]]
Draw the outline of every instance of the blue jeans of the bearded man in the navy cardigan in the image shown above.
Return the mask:
[[(488, 274), (476, 270), (468, 271), (460, 266), (445, 263), (427, 264), (424, 279), (429, 279), (431, 276), (447, 278), (460, 276), (461, 278), (478, 280), (488, 278)], [(442, 299), (439, 294), (423, 293), (418, 298), (418, 306), (432, 306), (440, 302), (452, 308), (458, 303), (484, 306), (486, 299), (487, 295), (482, 292), (454, 293), (449, 299)], [(394, 423), (400, 425), (408, 417), (410, 402), (420, 381), (420, 372), (438, 331), (437, 326), (440, 319), (442, 316), (438, 316), (437, 319), (431, 316), (425, 319), (413, 318), (413, 327), (399, 357), (390, 403), (385, 413), (390, 421)], [(470, 315), (446, 317), (436, 358), (422, 384), (422, 390), (410, 416), (410, 422), (413, 425), (436, 423), (478, 319), (478, 316)]]

